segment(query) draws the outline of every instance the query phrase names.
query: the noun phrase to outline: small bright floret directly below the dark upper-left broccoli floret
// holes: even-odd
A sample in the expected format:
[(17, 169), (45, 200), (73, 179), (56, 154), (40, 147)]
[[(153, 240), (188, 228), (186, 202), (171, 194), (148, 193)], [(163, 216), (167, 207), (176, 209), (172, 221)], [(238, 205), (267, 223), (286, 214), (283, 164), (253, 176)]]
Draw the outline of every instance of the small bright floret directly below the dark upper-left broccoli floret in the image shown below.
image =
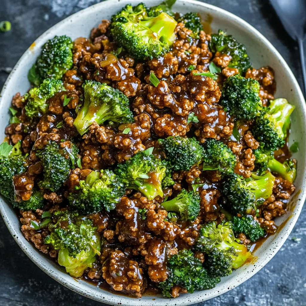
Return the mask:
[(45, 79), (39, 87), (31, 88), (23, 98), (23, 102), (27, 103), (25, 105), (25, 114), (30, 119), (33, 119), (47, 113), (47, 100), (59, 91), (65, 91), (63, 82), (52, 79)]

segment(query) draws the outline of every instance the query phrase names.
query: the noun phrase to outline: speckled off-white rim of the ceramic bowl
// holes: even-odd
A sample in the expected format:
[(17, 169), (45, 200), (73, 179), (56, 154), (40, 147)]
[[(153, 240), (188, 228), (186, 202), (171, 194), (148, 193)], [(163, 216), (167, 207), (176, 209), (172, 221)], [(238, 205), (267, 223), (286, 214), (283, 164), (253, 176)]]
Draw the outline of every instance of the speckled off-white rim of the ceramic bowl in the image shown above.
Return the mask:
[[(133, 1), (133, 0), (132, 0)], [(132, 2), (131, 1), (131, 2)], [(118, 0), (120, 2), (120, 0)], [(252, 33), (256, 37), (256, 39), (261, 40), (262, 43), (264, 43), (265, 47), (272, 51), (274, 56), (278, 59), (280, 62), (280, 65), (282, 65), (283, 69), (286, 70), (286, 73), (289, 74), (289, 77), (293, 81), (294, 89), (297, 91), (298, 95), (298, 101), (297, 103), (301, 104), (302, 112), (304, 113), (304, 117), (306, 114), (306, 106), (305, 106), (305, 100), (303, 97), (303, 94), (300, 90), (300, 87), (297, 83), (296, 78), (294, 77), (292, 71), (290, 70), (289, 66), (285, 62), (285, 60), (282, 58), (282, 56), (278, 53), (278, 51), (273, 47), (273, 45), (261, 34), (259, 33), (255, 28), (253, 28), (250, 24), (248, 24), (246, 21), (241, 19), (240, 17), (237, 17), (236, 15), (227, 12), (224, 9), (220, 9), (216, 6), (206, 4), (203, 2), (198, 2), (195, 0), (177, 0), (177, 2), (184, 2), (185, 6), (188, 6), (189, 4), (192, 5), (197, 5), (197, 6), (202, 6), (205, 8), (206, 11), (210, 11), (213, 13), (217, 13), (222, 15), (223, 17), (227, 18), (228, 21), (235, 22), (237, 23), (240, 27), (245, 28), (248, 32)], [(38, 39), (35, 40), (36, 44), (45, 41), (46, 35), (50, 34), (50, 32), (56, 31), (56, 29), (64, 24), (69, 27), (69, 23), (72, 22), (72, 20), (76, 20), (79, 16), (83, 14), (88, 14), (92, 11), (99, 11), (103, 7), (107, 8), (108, 6), (112, 6), (114, 3), (113, 0), (107, 0), (104, 2), (100, 2), (98, 4), (95, 4), (93, 6), (90, 6), (86, 9), (83, 9), (67, 18), (64, 20), (60, 21), (58, 24), (55, 24), (53, 27), (51, 27), (49, 30), (44, 32), (41, 36), (39, 36)], [(6, 91), (7, 85), (9, 84), (9, 80), (12, 78), (12, 76), (18, 71), (19, 65), (23, 61), (26, 61), (28, 56), (31, 53), (31, 48), (29, 48), (20, 58), (20, 60), (17, 62), (15, 67), (13, 68), (12, 72), (10, 73), (9, 77), (7, 78), (3, 89), (0, 94), (0, 105), (2, 103), (2, 96), (4, 92)], [(12, 93), (13, 95), (13, 93)], [(302, 165), (300, 165), (302, 166)], [(126, 306), (133, 306), (133, 305), (143, 305), (143, 306), (154, 306), (154, 305), (191, 305), (194, 303), (199, 303), (204, 300), (211, 299), (213, 297), (217, 297), (221, 295), (222, 293), (225, 293), (229, 291), (230, 289), (233, 289), (237, 285), (240, 285), (244, 281), (246, 281), (248, 278), (250, 278), (252, 275), (256, 274), (262, 267), (266, 265), (266, 263), (269, 262), (269, 260), (276, 254), (276, 252), (282, 247), (283, 243), (285, 240), (288, 238), (291, 230), (293, 229), (293, 226), (297, 222), (297, 218), (300, 215), (300, 212), (303, 207), (303, 203), (306, 198), (306, 193), (304, 192), (305, 189), (305, 165), (304, 167), (304, 175), (301, 183), (301, 192), (298, 195), (299, 197), (299, 202), (295, 203), (295, 207), (293, 208), (293, 212), (291, 217), (289, 218), (288, 222), (286, 222), (285, 226), (282, 228), (281, 237), (277, 237), (277, 239), (274, 239), (273, 242), (271, 242), (270, 250), (266, 251), (266, 256), (261, 256), (261, 258), (258, 259), (256, 264), (253, 265), (252, 269), (250, 270), (249, 267), (246, 267), (243, 269), (241, 267), (240, 269), (236, 270), (233, 272), (235, 274), (234, 278), (231, 278), (229, 281), (223, 282), (221, 288), (216, 289), (211, 289), (211, 290), (204, 290), (204, 291), (197, 291), (194, 294), (185, 294), (181, 295), (177, 299), (161, 299), (159, 296), (150, 296), (150, 297), (144, 297), (141, 299), (135, 299), (135, 298), (129, 298), (129, 297), (124, 297), (121, 295), (116, 295), (112, 294), (108, 291), (100, 290), (101, 292), (97, 294), (97, 288), (94, 286), (87, 286), (82, 282), (77, 281), (76, 279), (71, 278), (68, 274), (64, 273), (60, 268), (55, 268), (53, 267), (50, 262), (48, 262), (47, 258), (44, 258), (43, 260), (41, 259), (38, 254), (38, 251), (35, 250), (34, 248), (29, 247), (29, 242), (26, 241), (24, 238), (20, 239), (20, 228), (15, 228), (11, 224), (9, 218), (8, 218), (8, 210), (11, 210), (11, 207), (6, 204), (5, 201), (0, 200), (0, 212), (2, 215), (2, 218), (4, 219), (6, 226), (8, 227), (10, 233), (14, 237), (15, 241), (17, 244), (21, 247), (21, 249), (24, 251), (24, 253), (45, 273), (47, 273), (50, 277), (55, 279), (57, 282), (61, 283), (65, 287), (73, 290), (76, 293), (82, 294), (85, 297), (89, 297), (93, 300), (97, 300), (106, 304), (112, 304), (112, 305), (126, 305)], [(279, 235), (278, 235), (279, 236)], [(92, 287), (92, 288), (91, 288)], [(99, 290), (99, 289), (98, 289)], [(154, 299), (156, 298), (156, 299)]]

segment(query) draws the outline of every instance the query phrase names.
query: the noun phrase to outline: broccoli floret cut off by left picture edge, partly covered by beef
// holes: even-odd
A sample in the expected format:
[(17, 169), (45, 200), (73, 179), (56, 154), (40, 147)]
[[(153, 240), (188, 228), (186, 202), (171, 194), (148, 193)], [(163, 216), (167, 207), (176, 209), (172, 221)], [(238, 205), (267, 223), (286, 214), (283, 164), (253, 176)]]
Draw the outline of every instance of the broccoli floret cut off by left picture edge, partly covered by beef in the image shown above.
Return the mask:
[[(5, 150), (2, 150), (3, 148)], [(44, 203), (43, 194), (35, 188), (33, 188), (33, 193), (29, 200), (16, 200), (13, 177), (27, 170), (26, 159), (21, 155), (20, 143), (18, 142), (13, 147), (4, 142), (1, 144), (0, 151), (2, 154), (0, 156), (0, 194), (9, 200), (14, 207), (18, 207), (21, 210), (42, 208)]]

